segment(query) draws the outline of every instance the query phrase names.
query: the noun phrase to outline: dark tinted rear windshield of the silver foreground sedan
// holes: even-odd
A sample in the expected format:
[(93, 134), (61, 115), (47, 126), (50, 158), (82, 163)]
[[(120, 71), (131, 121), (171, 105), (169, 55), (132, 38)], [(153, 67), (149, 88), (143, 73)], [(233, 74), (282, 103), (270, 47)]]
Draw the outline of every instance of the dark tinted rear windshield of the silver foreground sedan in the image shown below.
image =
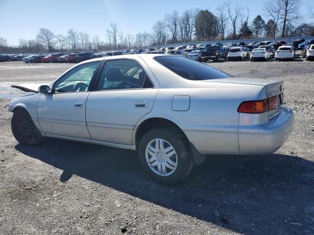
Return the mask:
[(203, 63), (177, 56), (157, 56), (155, 60), (167, 69), (188, 80), (209, 80), (231, 77)]

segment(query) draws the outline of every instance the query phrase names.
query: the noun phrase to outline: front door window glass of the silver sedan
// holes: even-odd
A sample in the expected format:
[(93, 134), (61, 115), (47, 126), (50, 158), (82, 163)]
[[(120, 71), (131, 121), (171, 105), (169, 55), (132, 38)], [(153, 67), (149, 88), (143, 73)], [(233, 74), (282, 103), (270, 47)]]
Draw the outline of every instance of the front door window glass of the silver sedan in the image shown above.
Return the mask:
[(87, 91), (99, 63), (99, 61), (86, 63), (67, 72), (55, 82), (54, 91), (56, 93)]

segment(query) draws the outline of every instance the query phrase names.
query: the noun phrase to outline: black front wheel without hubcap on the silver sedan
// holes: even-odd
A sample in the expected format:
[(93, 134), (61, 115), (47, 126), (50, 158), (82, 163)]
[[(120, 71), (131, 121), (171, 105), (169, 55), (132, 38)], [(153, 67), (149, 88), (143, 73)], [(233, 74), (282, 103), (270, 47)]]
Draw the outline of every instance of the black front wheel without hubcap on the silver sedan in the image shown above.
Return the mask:
[(36, 145), (44, 140), (29, 114), (23, 109), (14, 112), (11, 130), (15, 139), (23, 145)]

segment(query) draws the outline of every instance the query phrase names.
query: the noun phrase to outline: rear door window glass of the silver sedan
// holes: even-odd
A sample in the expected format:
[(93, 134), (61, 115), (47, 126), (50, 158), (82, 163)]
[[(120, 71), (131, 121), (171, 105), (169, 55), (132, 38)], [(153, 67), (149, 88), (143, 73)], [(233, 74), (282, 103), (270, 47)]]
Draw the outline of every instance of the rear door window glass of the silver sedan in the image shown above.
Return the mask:
[(106, 61), (97, 83), (98, 91), (152, 87), (146, 72), (130, 59)]

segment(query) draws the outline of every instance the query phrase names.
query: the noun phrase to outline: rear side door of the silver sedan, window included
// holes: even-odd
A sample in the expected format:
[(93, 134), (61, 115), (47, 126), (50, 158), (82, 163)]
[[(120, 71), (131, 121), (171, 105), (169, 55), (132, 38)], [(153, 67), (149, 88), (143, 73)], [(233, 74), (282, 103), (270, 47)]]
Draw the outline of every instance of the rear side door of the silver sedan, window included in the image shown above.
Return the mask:
[[(133, 59), (110, 59), (87, 99), (86, 122), (93, 140), (132, 145), (136, 123), (151, 112), (158, 83), (148, 66)], [(155, 86), (154, 86), (155, 85)]]

